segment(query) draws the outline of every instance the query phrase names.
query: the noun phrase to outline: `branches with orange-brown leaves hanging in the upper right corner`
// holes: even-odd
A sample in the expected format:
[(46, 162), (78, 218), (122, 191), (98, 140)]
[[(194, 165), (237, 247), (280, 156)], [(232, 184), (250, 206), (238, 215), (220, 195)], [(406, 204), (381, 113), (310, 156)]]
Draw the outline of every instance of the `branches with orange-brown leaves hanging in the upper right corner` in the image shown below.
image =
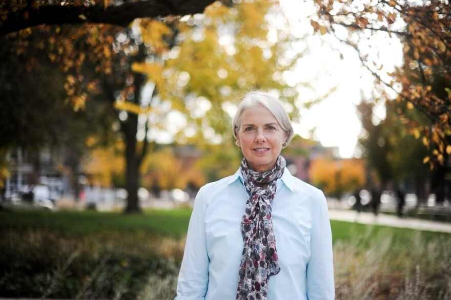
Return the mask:
[[(448, 1), (407, 2), (315, 0), (318, 16), (311, 24), (321, 34), (330, 32), (354, 48), (362, 65), (375, 77), (375, 98), (397, 98), (408, 110), (418, 110), (428, 121), (419, 123), (406, 114), (400, 120), (415, 137), (423, 135), (431, 167), (451, 154), (451, 10)], [(343, 28), (347, 30), (343, 34)], [(404, 68), (384, 68), (376, 43), (380, 38), (403, 43)], [(409, 71), (411, 69), (412, 71)], [(441, 89), (434, 84), (441, 81)]]

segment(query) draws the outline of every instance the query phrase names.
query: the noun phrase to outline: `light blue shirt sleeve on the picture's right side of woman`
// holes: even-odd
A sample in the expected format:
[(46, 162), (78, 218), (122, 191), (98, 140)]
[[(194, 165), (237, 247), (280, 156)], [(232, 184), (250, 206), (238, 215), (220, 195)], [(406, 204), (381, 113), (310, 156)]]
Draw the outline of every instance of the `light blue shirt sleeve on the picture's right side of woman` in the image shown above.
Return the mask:
[(309, 300), (334, 299), (334, 265), (332, 231), (327, 202), (322, 194), (314, 211), (310, 235), (311, 257), (307, 265), (307, 297)]

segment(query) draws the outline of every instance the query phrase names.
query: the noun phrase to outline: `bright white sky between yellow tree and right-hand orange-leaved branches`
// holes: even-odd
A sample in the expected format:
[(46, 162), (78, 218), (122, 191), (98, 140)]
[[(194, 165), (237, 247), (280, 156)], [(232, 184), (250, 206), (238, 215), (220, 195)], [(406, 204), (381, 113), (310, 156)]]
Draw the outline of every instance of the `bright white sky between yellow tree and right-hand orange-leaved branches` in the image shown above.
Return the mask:
[[(312, 2), (281, 0), (280, 3), (290, 20), (292, 31), (299, 36), (308, 36), (305, 45), (299, 46), (299, 51), (303, 50), (304, 55), (286, 78), (312, 85), (312, 88), (299, 90), (300, 120), (294, 126), (295, 132), (304, 138), (318, 140), (323, 146), (339, 147), (343, 158), (359, 156), (356, 146), (361, 122), (356, 105), (361, 101), (362, 92), (368, 94), (374, 88), (374, 78), (361, 66), (354, 49), (340, 45), (335, 37), (313, 34), (310, 20), (315, 8)], [(401, 44), (383, 36), (378, 37), (376, 42), (384, 68), (391, 71), (402, 61)], [(335, 90), (319, 104), (310, 109), (302, 108), (302, 103), (326, 94), (332, 88)], [(376, 117), (383, 119), (384, 115), (383, 106), (379, 106)]]

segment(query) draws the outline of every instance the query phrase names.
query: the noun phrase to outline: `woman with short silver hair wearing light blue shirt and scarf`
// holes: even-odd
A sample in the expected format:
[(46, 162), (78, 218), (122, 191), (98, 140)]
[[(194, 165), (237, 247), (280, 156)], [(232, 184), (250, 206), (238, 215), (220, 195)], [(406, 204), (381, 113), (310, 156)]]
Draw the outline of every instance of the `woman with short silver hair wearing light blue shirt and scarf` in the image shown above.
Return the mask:
[(333, 299), (326, 200), (285, 167), (293, 127), (280, 101), (247, 94), (233, 134), (244, 158), (196, 196), (175, 300)]

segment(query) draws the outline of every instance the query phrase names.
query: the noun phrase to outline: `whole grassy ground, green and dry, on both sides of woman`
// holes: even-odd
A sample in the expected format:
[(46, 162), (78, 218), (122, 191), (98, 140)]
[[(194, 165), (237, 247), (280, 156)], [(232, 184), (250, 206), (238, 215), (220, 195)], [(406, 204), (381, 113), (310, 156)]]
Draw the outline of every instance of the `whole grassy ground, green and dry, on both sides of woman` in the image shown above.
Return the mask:
[[(173, 299), (190, 214), (0, 212), (0, 297)], [(451, 298), (451, 234), (331, 225), (337, 299)]]

